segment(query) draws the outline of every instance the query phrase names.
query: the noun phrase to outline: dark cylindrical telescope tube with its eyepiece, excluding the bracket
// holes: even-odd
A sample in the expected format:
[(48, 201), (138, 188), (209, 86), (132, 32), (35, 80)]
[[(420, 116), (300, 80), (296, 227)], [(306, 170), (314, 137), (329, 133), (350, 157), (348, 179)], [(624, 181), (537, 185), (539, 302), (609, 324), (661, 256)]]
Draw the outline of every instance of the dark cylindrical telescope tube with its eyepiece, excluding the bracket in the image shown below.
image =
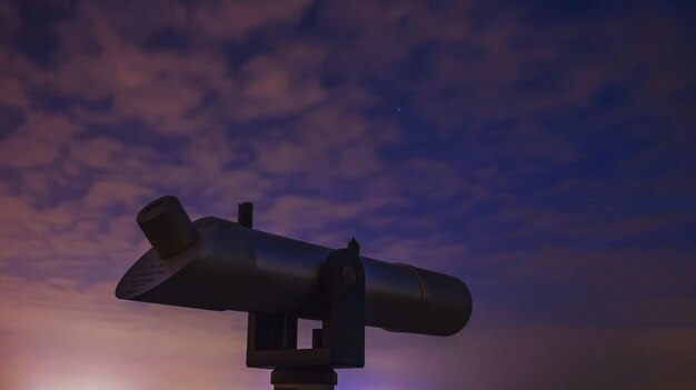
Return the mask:
[[(332, 249), (215, 217), (190, 222), (178, 201), (180, 210), (166, 203), (146, 207), (139, 214), (153, 248), (126, 272), (116, 289), (118, 298), (312, 320), (327, 316), (320, 278)], [(367, 326), (450, 336), (468, 321), (471, 296), (461, 280), (360, 259)]]

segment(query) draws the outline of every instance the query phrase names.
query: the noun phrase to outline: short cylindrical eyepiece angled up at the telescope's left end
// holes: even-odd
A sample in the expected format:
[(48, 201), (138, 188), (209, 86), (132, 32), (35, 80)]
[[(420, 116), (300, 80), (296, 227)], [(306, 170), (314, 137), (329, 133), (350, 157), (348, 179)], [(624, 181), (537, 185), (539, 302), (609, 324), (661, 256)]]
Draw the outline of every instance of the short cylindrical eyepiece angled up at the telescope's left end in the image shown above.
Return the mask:
[(198, 231), (177, 197), (153, 200), (140, 210), (136, 221), (160, 258), (177, 254), (198, 240)]

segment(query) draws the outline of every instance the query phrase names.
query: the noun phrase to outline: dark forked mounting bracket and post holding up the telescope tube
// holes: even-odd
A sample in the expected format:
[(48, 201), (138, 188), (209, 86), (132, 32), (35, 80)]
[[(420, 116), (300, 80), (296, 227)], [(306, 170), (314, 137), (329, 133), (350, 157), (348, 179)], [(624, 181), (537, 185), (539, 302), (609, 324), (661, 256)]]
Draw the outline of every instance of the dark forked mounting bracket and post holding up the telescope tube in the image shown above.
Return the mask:
[[(240, 224), (251, 228), (251, 203), (239, 204)], [(249, 313), (247, 367), (274, 369), (280, 389), (332, 390), (334, 369), (365, 366), (365, 270), (357, 241), (329, 253), (321, 267), (321, 329), (310, 349), (297, 348), (297, 317)]]

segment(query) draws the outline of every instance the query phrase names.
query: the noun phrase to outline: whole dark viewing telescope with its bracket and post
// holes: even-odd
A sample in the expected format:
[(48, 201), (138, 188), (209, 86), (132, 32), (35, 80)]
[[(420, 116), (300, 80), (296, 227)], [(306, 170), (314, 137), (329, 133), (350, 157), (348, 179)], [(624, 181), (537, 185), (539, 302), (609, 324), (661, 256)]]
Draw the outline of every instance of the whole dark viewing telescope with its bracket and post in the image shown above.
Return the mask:
[[(251, 203), (238, 211), (238, 222), (191, 222), (176, 197), (146, 206), (137, 222), (152, 249), (116, 297), (249, 312), (247, 366), (274, 369), (276, 390), (334, 389), (334, 369), (365, 366), (365, 326), (451, 336), (469, 320), (455, 277), (362, 257), (355, 239), (331, 250), (255, 230)], [(298, 319), (321, 321), (309, 349), (297, 348)]]

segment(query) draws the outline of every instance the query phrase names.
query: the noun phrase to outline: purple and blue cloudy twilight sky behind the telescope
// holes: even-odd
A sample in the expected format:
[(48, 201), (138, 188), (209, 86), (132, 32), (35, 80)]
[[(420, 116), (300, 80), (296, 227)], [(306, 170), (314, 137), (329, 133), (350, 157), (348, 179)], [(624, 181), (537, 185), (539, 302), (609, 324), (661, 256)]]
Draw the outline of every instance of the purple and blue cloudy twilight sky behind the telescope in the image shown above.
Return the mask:
[(695, 16), (0, 0), (0, 389), (271, 388), (245, 313), (115, 298), (163, 194), (467, 283), (337, 389), (695, 389)]

